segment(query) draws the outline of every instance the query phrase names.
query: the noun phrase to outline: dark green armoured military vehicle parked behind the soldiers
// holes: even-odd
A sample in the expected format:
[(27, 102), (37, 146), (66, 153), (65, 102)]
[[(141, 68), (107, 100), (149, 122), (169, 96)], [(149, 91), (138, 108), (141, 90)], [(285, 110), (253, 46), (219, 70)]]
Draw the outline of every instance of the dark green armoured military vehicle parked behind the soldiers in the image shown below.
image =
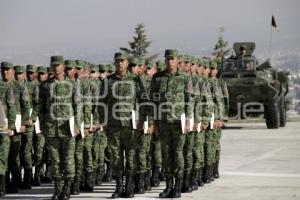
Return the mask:
[(254, 42), (234, 43), (236, 56), (221, 62), (220, 76), (229, 92), (229, 115), (236, 119), (262, 116), (267, 128), (286, 125), (288, 76), (272, 68), (270, 61), (261, 64), (252, 55)]

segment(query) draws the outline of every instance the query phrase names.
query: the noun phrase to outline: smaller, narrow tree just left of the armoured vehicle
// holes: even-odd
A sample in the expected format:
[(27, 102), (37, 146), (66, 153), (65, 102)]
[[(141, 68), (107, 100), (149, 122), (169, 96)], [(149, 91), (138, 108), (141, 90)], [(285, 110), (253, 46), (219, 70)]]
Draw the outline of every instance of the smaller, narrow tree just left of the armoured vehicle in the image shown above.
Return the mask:
[(214, 46), (214, 52), (212, 55), (215, 57), (214, 59), (218, 62), (221, 63), (222, 60), (224, 59), (224, 56), (228, 54), (231, 49), (227, 48), (228, 42), (223, 39), (223, 33), (224, 33), (224, 27), (219, 27), (219, 38), (217, 43)]

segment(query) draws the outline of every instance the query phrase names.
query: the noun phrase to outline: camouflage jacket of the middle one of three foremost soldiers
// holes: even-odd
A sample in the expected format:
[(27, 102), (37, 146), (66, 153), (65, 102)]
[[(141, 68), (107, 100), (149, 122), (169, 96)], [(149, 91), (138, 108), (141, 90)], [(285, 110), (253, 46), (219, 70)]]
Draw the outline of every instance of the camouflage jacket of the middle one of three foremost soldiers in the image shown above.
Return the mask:
[[(132, 127), (132, 112), (136, 111), (136, 120), (145, 121), (146, 111), (143, 106), (142, 95), (145, 89), (141, 79), (127, 72), (121, 78), (114, 73), (104, 79), (100, 91), (99, 121), (108, 127)], [(105, 106), (106, 105), (106, 106)], [(106, 107), (106, 108), (105, 108)]]

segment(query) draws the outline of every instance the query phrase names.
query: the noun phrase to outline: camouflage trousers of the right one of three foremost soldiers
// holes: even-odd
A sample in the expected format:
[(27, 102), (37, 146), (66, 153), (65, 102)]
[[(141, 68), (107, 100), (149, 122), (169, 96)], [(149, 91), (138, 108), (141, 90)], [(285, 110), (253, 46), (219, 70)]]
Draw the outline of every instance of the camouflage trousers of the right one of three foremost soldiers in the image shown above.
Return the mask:
[(185, 135), (182, 134), (180, 122), (160, 124), (159, 137), (166, 176), (182, 178), (184, 170), (183, 146), (185, 143)]

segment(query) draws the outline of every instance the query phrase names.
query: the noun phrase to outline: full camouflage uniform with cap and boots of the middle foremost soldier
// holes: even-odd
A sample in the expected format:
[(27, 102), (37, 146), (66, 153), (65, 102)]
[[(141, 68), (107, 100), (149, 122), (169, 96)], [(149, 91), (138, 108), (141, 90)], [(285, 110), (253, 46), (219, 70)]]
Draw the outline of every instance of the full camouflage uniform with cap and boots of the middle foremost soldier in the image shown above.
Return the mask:
[[(128, 55), (125, 53), (115, 53), (116, 62), (126, 62)], [(106, 91), (106, 92), (105, 92)], [(133, 197), (133, 175), (135, 173), (135, 151), (137, 136), (132, 126), (132, 110), (136, 110), (136, 103), (141, 103), (141, 96), (144, 94), (141, 80), (136, 75), (126, 72), (124, 77), (117, 73), (107, 77), (101, 89), (103, 95), (102, 102), (107, 105), (110, 115), (104, 116), (103, 106), (99, 107), (100, 123), (104, 123), (107, 117), (108, 143), (110, 144), (112, 155), (113, 173), (116, 177), (117, 187), (113, 198), (118, 198), (122, 194), (122, 175), (124, 172), (125, 151), (125, 197)], [(144, 121), (144, 114), (140, 115), (140, 120)]]

